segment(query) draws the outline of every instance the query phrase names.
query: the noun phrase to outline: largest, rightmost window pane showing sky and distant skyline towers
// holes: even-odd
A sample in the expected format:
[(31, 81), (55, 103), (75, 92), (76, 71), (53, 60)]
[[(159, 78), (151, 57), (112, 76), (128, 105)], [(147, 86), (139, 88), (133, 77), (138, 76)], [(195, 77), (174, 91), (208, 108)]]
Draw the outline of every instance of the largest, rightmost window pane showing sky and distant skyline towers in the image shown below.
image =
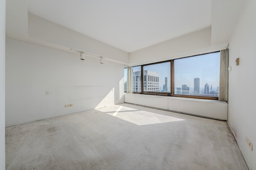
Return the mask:
[(174, 60), (174, 94), (219, 96), (220, 52)]

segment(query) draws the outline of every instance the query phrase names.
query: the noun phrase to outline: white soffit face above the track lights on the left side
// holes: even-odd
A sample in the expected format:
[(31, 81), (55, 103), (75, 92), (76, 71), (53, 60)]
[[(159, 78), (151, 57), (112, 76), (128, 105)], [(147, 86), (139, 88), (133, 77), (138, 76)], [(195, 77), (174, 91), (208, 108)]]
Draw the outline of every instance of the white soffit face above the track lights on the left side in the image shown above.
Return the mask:
[(128, 63), (127, 52), (31, 13), (28, 13), (28, 36), (69, 49)]

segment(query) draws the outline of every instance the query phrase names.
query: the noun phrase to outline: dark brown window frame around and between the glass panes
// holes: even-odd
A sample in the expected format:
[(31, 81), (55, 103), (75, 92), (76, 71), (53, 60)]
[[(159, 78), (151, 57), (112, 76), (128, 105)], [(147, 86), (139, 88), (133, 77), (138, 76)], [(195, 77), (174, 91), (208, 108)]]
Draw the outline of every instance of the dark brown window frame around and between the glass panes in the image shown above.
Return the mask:
[[(192, 55), (192, 56), (188, 56), (188, 57), (196, 57), (196, 56), (200, 56), (200, 55), (206, 55), (206, 54), (217, 53), (217, 52), (221, 52), (221, 50), (210, 52), (210, 53), (199, 54), (199, 55)], [(188, 57), (181, 57), (181, 58), (177, 58), (177, 59), (184, 59), (184, 58), (188, 58)], [(146, 95), (158, 95), (158, 96), (174, 96), (174, 97), (181, 97), (181, 98), (219, 100), (220, 94), (219, 94), (218, 97), (174, 94), (174, 60), (176, 60), (176, 59), (139, 65), (141, 67), (141, 69), (140, 69), (140, 71), (141, 71), (141, 76), (140, 76), (141, 77), (141, 80), (140, 80), (141, 81), (141, 92), (132, 92), (132, 93), (134, 93), (134, 94), (146, 94)], [(143, 74), (144, 73), (144, 66), (153, 65), (153, 64), (168, 63), (168, 62), (170, 63), (170, 82), (168, 83), (170, 85), (170, 92), (148, 92), (148, 91), (144, 91), (144, 74)], [(148, 84), (146, 84), (146, 86), (148, 86)]]

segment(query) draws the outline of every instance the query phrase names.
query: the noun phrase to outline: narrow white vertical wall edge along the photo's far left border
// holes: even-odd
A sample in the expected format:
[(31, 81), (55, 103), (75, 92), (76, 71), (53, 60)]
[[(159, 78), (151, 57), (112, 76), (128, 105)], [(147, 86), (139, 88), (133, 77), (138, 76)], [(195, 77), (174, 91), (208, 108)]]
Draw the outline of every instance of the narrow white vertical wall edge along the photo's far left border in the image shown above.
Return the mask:
[(0, 169), (5, 169), (5, 0), (0, 0)]

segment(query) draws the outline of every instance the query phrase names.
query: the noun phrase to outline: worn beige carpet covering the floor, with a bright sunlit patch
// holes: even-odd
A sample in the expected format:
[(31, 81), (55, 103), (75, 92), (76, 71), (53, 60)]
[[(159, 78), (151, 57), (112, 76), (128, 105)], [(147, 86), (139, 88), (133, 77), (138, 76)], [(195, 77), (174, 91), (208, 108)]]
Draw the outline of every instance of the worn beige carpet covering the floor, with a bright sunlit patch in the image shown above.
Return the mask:
[(248, 170), (227, 122), (122, 104), (6, 128), (7, 170)]

